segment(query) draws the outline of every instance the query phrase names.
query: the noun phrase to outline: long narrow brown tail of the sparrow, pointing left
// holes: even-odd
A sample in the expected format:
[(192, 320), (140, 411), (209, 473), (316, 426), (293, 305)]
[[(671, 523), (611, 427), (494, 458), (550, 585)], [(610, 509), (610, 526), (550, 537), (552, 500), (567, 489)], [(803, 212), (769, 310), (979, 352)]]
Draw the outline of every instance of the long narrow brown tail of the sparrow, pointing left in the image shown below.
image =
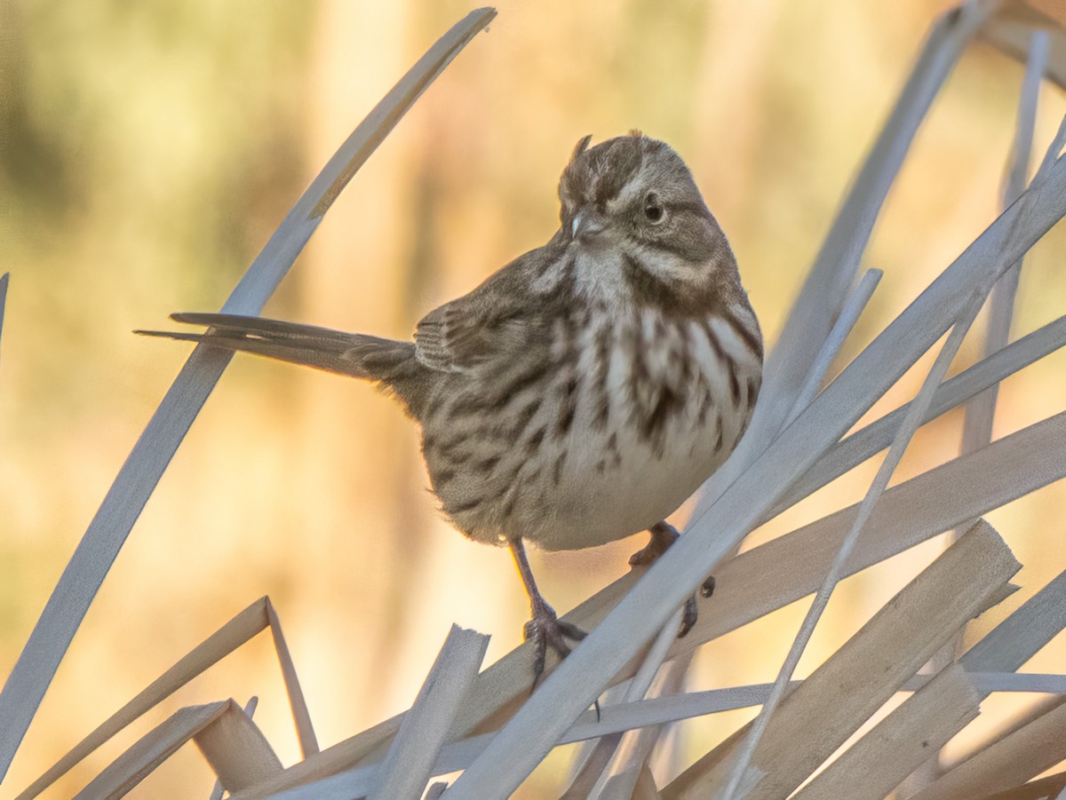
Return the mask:
[(133, 332), (257, 353), (281, 361), (381, 381), (399, 390), (400, 394), (404, 394), (401, 385), (415, 377), (407, 373), (420, 368), (415, 358), (414, 342), (240, 314), (179, 313), (171, 314), (171, 319), (190, 325), (206, 325), (208, 330), (204, 333), (168, 330)]

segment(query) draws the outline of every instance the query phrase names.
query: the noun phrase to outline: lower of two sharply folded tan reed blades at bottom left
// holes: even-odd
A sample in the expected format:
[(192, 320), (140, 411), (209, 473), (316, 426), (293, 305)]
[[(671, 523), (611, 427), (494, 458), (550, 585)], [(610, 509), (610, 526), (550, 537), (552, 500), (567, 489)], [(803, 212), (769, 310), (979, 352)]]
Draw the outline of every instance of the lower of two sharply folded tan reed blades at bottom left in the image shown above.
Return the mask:
[[(247, 720), (247, 724), (254, 728), (252, 720), (232, 700), (193, 705), (175, 712), (166, 721), (143, 736), (118, 758), (109, 764), (100, 774), (75, 796), (75, 800), (122, 797), (143, 781), (156, 767), (176, 753), (182, 745), (219, 722), (223, 717), (227, 717), (227, 721), (223, 723), (226, 731), (232, 732), (238, 725), (243, 725), (243, 722), (237, 721), (232, 716), (235, 714)], [(255, 735), (245, 736), (244, 733), (239, 735), (242, 737), (241, 741), (247, 746), (242, 750), (243, 755), (253, 761), (243, 766), (231, 765), (227, 762), (224, 782), (238, 774), (261, 778), (265, 773), (280, 771), (281, 763), (274, 755), (266, 740), (261, 738), (261, 734), (258, 735), (257, 742), (253, 742), (253, 739), (257, 738)], [(217, 753), (217, 739), (210, 735), (208, 739), (212, 753)], [(231, 767), (237, 771), (230, 772)]]

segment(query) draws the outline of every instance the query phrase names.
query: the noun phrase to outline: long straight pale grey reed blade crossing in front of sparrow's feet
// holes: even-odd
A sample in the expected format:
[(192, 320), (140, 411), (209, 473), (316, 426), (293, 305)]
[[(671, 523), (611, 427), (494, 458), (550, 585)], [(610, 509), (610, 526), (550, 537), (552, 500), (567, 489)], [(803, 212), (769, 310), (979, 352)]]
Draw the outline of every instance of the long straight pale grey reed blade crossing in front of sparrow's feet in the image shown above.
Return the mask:
[[(603, 622), (504, 725), (446, 793), (450, 800), (505, 797), (559, 735), (659, 630), (788, 488), (865, 413), (970, 301), (1066, 215), (1059, 160), (946, 270), (653, 564)], [(685, 637), (688, 638), (688, 637)], [(499, 742), (499, 744), (497, 744)]]

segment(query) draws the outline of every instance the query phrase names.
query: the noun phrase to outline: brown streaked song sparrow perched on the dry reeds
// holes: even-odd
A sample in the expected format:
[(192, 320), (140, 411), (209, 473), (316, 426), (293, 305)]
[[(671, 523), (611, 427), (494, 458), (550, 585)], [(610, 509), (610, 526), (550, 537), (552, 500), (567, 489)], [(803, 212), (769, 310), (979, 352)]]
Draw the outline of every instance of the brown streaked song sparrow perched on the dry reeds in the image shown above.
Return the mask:
[[(714, 472), (750, 418), (762, 339), (729, 243), (681, 158), (634, 131), (588, 148), (559, 185), (562, 226), (414, 342), (231, 314), (174, 314), (206, 333), (139, 331), (249, 350), (377, 382), (422, 426), (455, 527), (507, 544), (532, 605), (526, 635), (569, 652), (584, 633), (544, 601), (522, 541), (548, 550), (650, 529)], [(685, 626), (694, 621), (689, 604)]]

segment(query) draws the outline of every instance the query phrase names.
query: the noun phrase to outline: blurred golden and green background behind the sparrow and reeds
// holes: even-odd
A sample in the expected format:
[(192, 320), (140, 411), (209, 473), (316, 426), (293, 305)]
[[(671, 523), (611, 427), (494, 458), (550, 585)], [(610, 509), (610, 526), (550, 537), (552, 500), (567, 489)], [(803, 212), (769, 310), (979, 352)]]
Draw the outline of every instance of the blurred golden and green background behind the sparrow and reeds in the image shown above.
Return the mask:
[[(0, 364), (0, 675), (188, 356), (130, 331), (165, 326), (172, 311), (216, 310), (351, 129), (470, 7), (0, 0), (0, 273), (12, 273)], [(640, 128), (692, 166), (773, 343), (943, 7), (503, 0), (490, 32), (341, 195), (264, 314), (407, 337), (425, 312), (551, 235), (559, 174), (578, 138)], [(867, 265), (885, 277), (845, 359), (997, 215), (1021, 76), (978, 45), (949, 80), (873, 238)], [(1039, 153), (1064, 112), (1046, 86)], [(1014, 336), (1062, 313), (1063, 245), (1052, 231), (1027, 262)], [(956, 371), (976, 356), (971, 342)], [(995, 436), (1063, 410), (1064, 370), (1059, 354), (1006, 381)], [(908, 399), (923, 374), (912, 371), (878, 413)], [(950, 413), (926, 426), (898, 480), (953, 458), (960, 422)], [(855, 502), (875, 468), (757, 540)], [(517, 646), (529, 609), (511, 556), (456, 534), (426, 486), (417, 430), (392, 402), (356, 381), (238, 357), (115, 561), (0, 796), (263, 594), (323, 746), (406, 708), (452, 622), (491, 634), (488, 662)], [(1024, 565), (1022, 589), (971, 637), (1062, 569), (1064, 502), (1066, 487), (1054, 485), (989, 516)], [(533, 567), (566, 610), (625, 572), (643, 544), (534, 552)], [(941, 546), (845, 582), (801, 674)], [(704, 648), (690, 687), (773, 680), (805, 608)], [(1064, 656), (1060, 637), (1029, 669), (1061, 670)], [(177, 708), (252, 695), (257, 723), (291, 764), (296, 740), (261, 635), (47, 797), (69, 797)], [(994, 697), (970, 735), (1032, 700)], [(679, 764), (752, 714), (685, 723)], [(555, 796), (574, 753), (553, 753), (518, 797)], [(203, 798), (212, 782), (190, 746), (133, 796)]]

